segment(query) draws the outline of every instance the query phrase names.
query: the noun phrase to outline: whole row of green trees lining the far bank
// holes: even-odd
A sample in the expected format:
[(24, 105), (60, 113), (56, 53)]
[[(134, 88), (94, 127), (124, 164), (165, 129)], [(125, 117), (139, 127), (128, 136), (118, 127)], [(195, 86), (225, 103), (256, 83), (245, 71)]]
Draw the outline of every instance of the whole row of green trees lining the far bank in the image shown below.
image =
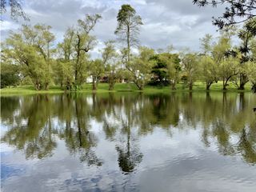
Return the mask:
[[(54, 43), (51, 26), (23, 25), (18, 32), (11, 31), (1, 45), (1, 88), (33, 84), (36, 90), (48, 90), (54, 84), (63, 90), (79, 90), (90, 76), (92, 90), (97, 90), (102, 77), (109, 83), (109, 90), (114, 90), (114, 84), (122, 79), (134, 82), (138, 90), (143, 90), (146, 84), (175, 90), (178, 82), (186, 83), (192, 90), (195, 81), (205, 82), (206, 90), (218, 81), (222, 81), (223, 90), (229, 82), (238, 90), (244, 90), (248, 82), (256, 89), (256, 38), (246, 30), (255, 18), (241, 29), (221, 30), (217, 42), (206, 34), (200, 39), (201, 52), (174, 53), (173, 46), (156, 52), (139, 46), (142, 18), (132, 6), (122, 5), (114, 30), (117, 40), (105, 42), (102, 57), (93, 60), (90, 50), (96, 46), (97, 38), (91, 32), (101, 18), (100, 14), (87, 14), (86, 18), (78, 19), (77, 26), (68, 28), (58, 45)], [(234, 37), (240, 39), (241, 46), (232, 45)], [(118, 43), (122, 49), (117, 48)], [(244, 45), (250, 49), (241, 50)], [(135, 47), (138, 54), (131, 51)]]

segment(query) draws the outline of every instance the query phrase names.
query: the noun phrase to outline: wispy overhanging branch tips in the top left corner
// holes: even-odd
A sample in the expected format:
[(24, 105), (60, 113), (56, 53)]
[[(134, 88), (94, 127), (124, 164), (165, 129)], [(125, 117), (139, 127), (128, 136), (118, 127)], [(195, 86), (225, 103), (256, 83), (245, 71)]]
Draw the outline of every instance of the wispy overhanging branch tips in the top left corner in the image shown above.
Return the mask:
[(23, 18), (25, 21), (29, 21), (30, 18), (25, 14), (25, 12), (22, 9), (22, 3), (18, 0), (1, 0), (0, 2), (0, 13), (1, 13), (1, 20), (2, 20), (2, 14), (6, 13), (6, 7), (10, 6), (10, 18), (14, 19), (15, 21), (18, 20), (18, 18)]

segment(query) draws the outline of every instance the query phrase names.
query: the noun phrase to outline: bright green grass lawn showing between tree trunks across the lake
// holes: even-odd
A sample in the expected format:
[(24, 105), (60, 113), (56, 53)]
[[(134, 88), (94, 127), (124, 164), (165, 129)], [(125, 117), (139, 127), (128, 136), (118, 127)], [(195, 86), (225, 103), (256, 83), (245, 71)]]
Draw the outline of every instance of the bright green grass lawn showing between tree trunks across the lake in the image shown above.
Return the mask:
[[(110, 92), (108, 90), (109, 85), (107, 83), (99, 83), (97, 93), (102, 92)], [(237, 87), (234, 84), (230, 83), (230, 86), (227, 87), (228, 90), (232, 92), (241, 92), (241, 90), (237, 90)], [(1, 94), (58, 94), (63, 93), (64, 91), (60, 89), (59, 86), (50, 86), (49, 90), (35, 90), (34, 86), (15, 86), (10, 88), (1, 89)], [(116, 83), (114, 86), (114, 90), (111, 92), (118, 92), (118, 91), (139, 91), (138, 88), (134, 85), (134, 83)], [(171, 90), (170, 86), (145, 86), (145, 89), (142, 92), (146, 93), (154, 93), (154, 92), (174, 92), (174, 91), (189, 91), (188, 88), (180, 83), (177, 85), (177, 90)], [(193, 91), (206, 91), (206, 84), (203, 82), (195, 82)], [(222, 82), (214, 83), (210, 87), (210, 91), (219, 91), (222, 92)], [(243, 91), (250, 91), (250, 84), (247, 83), (246, 90)], [(92, 85), (91, 84), (84, 84), (82, 85), (82, 89), (78, 92), (92, 92)]]

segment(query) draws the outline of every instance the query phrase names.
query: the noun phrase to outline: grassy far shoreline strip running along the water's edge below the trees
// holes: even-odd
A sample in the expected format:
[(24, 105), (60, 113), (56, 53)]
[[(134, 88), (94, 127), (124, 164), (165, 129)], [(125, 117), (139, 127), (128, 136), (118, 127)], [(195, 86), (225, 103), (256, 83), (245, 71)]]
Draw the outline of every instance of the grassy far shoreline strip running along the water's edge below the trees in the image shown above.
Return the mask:
[(101, 93), (146, 93), (146, 94), (154, 94), (154, 93), (189, 93), (189, 92), (209, 92), (209, 93), (249, 93), (250, 85), (246, 85), (245, 90), (238, 90), (236, 86), (230, 85), (227, 90), (222, 90), (221, 82), (215, 83), (210, 90), (206, 90), (205, 84), (202, 82), (197, 82), (194, 85), (193, 90), (189, 90), (184, 86), (184, 84), (178, 84), (176, 90), (171, 90), (170, 86), (145, 86), (144, 90), (138, 90), (137, 87), (133, 83), (117, 83), (114, 90), (108, 90), (107, 83), (99, 83), (97, 90), (91, 89), (91, 84), (82, 85), (81, 90), (77, 91), (66, 91), (61, 90), (59, 86), (50, 86), (49, 90), (35, 90), (34, 86), (16, 86), (10, 88), (4, 88), (0, 90), (0, 95), (23, 95), (23, 94), (64, 94), (64, 93), (85, 93), (85, 94), (101, 94)]

